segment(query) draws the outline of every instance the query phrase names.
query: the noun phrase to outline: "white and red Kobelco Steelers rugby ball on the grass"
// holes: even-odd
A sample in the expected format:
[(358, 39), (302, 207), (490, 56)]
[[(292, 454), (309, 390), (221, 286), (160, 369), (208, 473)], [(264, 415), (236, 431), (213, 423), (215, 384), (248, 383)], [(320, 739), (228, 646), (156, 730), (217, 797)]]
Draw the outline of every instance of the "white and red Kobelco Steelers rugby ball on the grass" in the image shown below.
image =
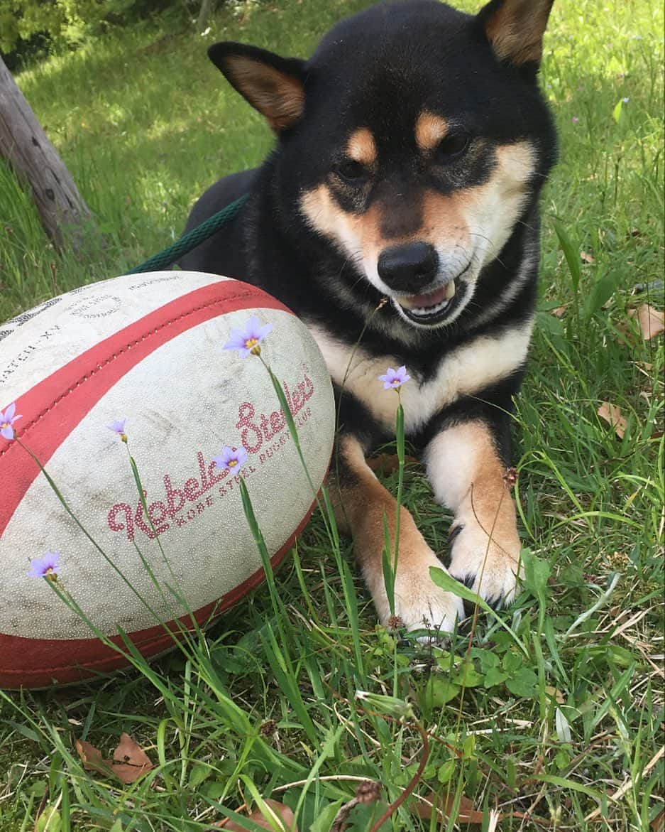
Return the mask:
[(0, 687), (126, 666), (105, 637), (155, 656), (228, 609), (264, 578), (240, 478), (277, 565), (334, 426), (312, 336), (238, 280), (124, 275), (0, 325)]

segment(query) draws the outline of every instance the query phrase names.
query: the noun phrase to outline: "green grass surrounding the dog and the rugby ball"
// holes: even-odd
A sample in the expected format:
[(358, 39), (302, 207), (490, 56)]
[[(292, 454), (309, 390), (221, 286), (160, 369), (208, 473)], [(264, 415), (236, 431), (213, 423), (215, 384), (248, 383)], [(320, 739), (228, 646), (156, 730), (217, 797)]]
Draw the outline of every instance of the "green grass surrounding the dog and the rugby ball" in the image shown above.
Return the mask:
[[(211, 181), (264, 156), (268, 131), (206, 62), (208, 42), (306, 54), (361, 6), (234, 2), (204, 37), (161, 17), (23, 72), (104, 245), (57, 255), (0, 166), (0, 319), (138, 264), (180, 234)], [(662, 32), (659, 3), (559, 0), (546, 38), (561, 161), (544, 195), (538, 327), (516, 414), (532, 557), (515, 606), (445, 648), (401, 641), (376, 626), (347, 542), (332, 546), (315, 517), (277, 582), (189, 655), (94, 686), (0, 695), (2, 832), (204, 830), (261, 796), (323, 832), (359, 780), (382, 784), (381, 810), (397, 800), (423, 731), (415, 790), (447, 795), (446, 817), (426, 820), (411, 797), (382, 829), (466, 829), (458, 810), (471, 806), (482, 830), (658, 830), (663, 341), (643, 340), (628, 312), (663, 308)], [(623, 439), (598, 418), (602, 401), (628, 418)], [(397, 491), (397, 473), (385, 481)], [(448, 518), (416, 466), (404, 499), (445, 551)], [(382, 696), (411, 703), (413, 718)], [(106, 753), (123, 730), (155, 769), (127, 786), (83, 770), (74, 738)], [(347, 829), (369, 829), (372, 812), (357, 806)]]

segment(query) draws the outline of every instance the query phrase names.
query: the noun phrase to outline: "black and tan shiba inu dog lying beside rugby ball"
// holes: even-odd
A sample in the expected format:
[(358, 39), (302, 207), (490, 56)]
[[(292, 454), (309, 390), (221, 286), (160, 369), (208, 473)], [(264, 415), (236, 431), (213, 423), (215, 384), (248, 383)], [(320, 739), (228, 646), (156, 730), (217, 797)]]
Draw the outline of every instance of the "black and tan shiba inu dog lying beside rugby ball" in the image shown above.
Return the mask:
[[(383, 518), (394, 534), (397, 511), (365, 456), (394, 436), (397, 396), (377, 382), (387, 367), (411, 374), (406, 435), (455, 513), (451, 574), (492, 604), (517, 591), (504, 476), (534, 318), (539, 192), (556, 155), (537, 82), (551, 5), (491, 0), (474, 17), (436, 0), (379, 4), (340, 22), (308, 61), (209, 49), (278, 141), (261, 167), (200, 198), (188, 229), (249, 192), (180, 265), (282, 300), (338, 394), (343, 384), (331, 493), (384, 622)], [(397, 616), (450, 630), (461, 600), (431, 582), (441, 563), (404, 510), (399, 534)]]

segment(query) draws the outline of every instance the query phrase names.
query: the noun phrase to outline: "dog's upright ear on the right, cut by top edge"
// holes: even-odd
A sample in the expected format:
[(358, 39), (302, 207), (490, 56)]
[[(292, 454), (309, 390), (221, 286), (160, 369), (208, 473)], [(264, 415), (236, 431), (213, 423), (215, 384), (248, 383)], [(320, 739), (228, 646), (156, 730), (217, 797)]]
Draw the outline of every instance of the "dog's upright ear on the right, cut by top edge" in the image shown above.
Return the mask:
[(490, 0), (476, 22), (500, 61), (536, 70), (543, 57), (543, 33), (554, 0)]

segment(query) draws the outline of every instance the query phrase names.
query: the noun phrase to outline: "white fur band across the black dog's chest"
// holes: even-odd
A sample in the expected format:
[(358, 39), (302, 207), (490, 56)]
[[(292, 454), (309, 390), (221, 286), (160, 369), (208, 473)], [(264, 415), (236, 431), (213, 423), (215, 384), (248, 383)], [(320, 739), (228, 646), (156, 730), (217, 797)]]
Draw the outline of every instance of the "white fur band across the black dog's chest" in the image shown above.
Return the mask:
[[(464, 395), (473, 395), (490, 384), (505, 379), (520, 367), (529, 349), (533, 321), (497, 335), (479, 335), (440, 360), (436, 373), (426, 382), (413, 376), (401, 389), (406, 433), (414, 433), (439, 410)], [(391, 432), (395, 427), (397, 394), (384, 390), (378, 377), (388, 367), (397, 368), (392, 355), (367, 354), (332, 338), (318, 326), (309, 326), (328, 364), (332, 380), (354, 394), (372, 416)]]

